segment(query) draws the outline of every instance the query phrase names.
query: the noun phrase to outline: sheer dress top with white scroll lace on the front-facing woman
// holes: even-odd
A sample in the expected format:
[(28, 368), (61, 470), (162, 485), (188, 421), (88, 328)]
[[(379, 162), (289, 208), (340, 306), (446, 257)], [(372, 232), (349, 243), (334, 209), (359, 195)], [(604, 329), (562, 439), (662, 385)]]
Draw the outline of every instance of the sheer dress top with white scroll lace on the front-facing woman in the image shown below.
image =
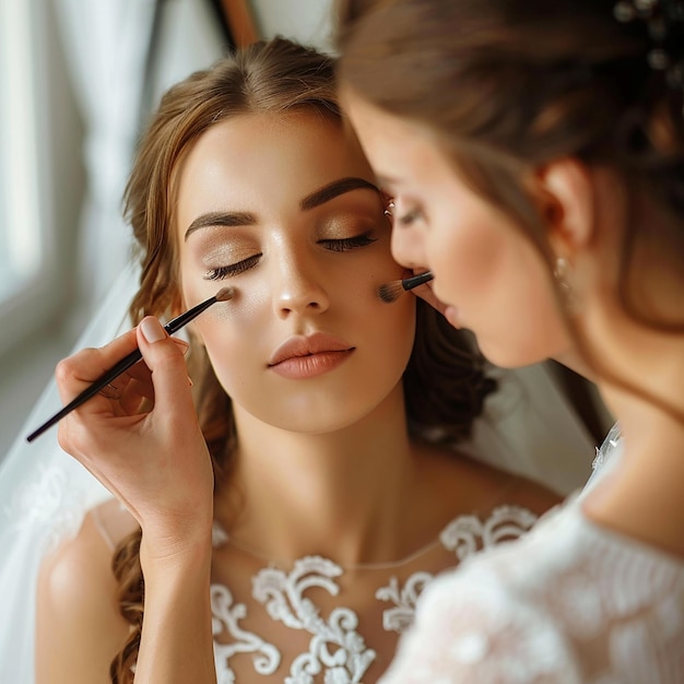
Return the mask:
[[(459, 516), (434, 542), (392, 564), (345, 569), (308, 556), (281, 569), (252, 555), (260, 569), (248, 574), (250, 588), (231, 568), (225, 581), (211, 587), (219, 684), (376, 681), (389, 664), (379, 651), (393, 653), (435, 575), (475, 551), (518, 538), (535, 521), (517, 506), (499, 506), (486, 519)], [(236, 549), (240, 552), (217, 526), (214, 546), (215, 555), (227, 550), (235, 558)]]

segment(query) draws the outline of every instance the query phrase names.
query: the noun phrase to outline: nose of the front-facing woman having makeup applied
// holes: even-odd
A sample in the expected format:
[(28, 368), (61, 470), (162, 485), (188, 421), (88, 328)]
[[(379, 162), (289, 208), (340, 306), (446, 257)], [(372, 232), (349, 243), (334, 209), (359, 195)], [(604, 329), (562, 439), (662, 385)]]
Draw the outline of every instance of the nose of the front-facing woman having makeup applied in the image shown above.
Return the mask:
[(288, 256), (283, 259), (273, 283), (273, 306), (280, 318), (291, 314), (319, 314), (328, 309), (330, 300), (320, 273), (304, 259)]

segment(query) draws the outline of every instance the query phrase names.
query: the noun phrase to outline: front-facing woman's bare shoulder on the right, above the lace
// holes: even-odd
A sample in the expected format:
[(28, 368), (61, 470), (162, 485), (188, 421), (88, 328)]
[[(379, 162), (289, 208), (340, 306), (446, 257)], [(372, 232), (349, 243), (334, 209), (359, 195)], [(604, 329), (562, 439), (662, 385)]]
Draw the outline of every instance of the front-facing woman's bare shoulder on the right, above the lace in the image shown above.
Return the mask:
[(502, 505), (521, 506), (542, 515), (563, 497), (530, 479), (477, 461), (446, 447), (421, 449), (424, 483), (458, 514), (488, 512)]

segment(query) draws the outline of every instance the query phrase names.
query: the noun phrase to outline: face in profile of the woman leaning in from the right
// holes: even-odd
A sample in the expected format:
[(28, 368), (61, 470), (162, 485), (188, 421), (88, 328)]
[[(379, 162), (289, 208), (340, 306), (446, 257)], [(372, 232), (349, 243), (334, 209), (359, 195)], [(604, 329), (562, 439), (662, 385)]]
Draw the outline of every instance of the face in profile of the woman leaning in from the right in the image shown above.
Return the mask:
[(570, 347), (545, 266), (511, 221), (455, 173), (423, 127), (354, 93), (343, 104), (382, 188), (394, 198), (392, 252), (431, 269), (446, 316), (472, 330), (500, 366), (562, 356)]

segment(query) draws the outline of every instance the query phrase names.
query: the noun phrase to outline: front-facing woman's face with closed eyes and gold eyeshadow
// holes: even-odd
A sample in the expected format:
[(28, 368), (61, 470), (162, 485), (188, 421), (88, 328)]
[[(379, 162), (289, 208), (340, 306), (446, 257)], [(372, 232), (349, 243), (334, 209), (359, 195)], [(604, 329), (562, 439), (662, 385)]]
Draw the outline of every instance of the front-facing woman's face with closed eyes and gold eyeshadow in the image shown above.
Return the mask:
[(377, 296), (408, 272), (372, 179), (341, 127), (307, 111), (217, 123), (184, 160), (182, 295), (236, 290), (193, 329), (238, 420), (326, 432), (401, 398), (415, 302)]

